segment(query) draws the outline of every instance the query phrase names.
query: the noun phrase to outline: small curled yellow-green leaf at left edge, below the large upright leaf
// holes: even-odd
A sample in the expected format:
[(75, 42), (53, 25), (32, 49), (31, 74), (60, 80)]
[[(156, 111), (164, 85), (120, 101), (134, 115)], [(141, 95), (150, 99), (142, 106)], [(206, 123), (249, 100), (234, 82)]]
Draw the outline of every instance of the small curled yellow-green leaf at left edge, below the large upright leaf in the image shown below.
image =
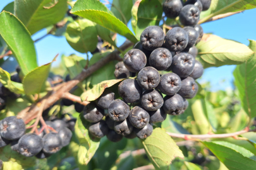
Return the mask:
[(24, 94), (24, 89), (21, 83), (11, 81), (11, 75), (9, 72), (4, 71), (0, 67), (0, 82), (4, 85), (4, 87), (8, 88), (10, 91), (16, 94)]

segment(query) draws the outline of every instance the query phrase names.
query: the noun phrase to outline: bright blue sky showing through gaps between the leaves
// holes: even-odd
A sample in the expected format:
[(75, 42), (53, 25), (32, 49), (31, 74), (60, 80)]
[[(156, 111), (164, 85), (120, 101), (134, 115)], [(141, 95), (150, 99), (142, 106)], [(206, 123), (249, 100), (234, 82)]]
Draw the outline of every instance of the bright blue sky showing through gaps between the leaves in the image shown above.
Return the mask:
[[(13, 0), (4, 0), (0, 3), (0, 11)], [(248, 39), (256, 40), (256, 9), (250, 9), (243, 13), (229, 16), (222, 20), (212, 21), (202, 24), (205, 33), (214, 33), (222, 38), (228, 38), (237, 42), (248, 45)], [(131, 29), (131, 26), (128, 26)], [(46, 30), (41, 30), (32, 36), (34, 40), (46, 34)], [(125, 41), (125, 38), (118, 36), (118, 46)], [(35, 43), (39, 65), (51, 62), (56, 54), (76, 54), (80, 57), (86, 57), (73, 50), (66, 42), (65, 37), (54, 37), (48, 35), (43, 40)], [(58, 58), (56, 64), (60, 61)], [(222, 67), (212, 67), (205, 69), (204, 75), (199, 82), (210, 81), (212, 91), (218, 89), (232, 88), (233, 70), (235, 65), (226, 65)]]

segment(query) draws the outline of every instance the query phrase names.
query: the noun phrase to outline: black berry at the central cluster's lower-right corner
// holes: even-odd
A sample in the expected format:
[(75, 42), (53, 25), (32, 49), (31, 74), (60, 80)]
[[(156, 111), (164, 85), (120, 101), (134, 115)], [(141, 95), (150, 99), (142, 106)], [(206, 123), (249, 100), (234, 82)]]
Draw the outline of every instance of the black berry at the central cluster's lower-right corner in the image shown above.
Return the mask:
[(162, 107), (168, 115), (180, 115), (183, 113), (183, 98), (179, 94), (165, 96)]

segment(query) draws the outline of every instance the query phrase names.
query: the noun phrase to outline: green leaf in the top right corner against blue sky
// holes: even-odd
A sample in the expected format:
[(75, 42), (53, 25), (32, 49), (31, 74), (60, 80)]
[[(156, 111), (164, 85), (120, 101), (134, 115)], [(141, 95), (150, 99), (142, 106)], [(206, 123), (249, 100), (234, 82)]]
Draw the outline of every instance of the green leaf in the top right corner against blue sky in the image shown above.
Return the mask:
[(200, 14), (200, 23), (204, 23), (218, 14), (233, 13), (253, 8), (256, 8), (256, 1), (254, 0), (212, 0), (210, 8)]

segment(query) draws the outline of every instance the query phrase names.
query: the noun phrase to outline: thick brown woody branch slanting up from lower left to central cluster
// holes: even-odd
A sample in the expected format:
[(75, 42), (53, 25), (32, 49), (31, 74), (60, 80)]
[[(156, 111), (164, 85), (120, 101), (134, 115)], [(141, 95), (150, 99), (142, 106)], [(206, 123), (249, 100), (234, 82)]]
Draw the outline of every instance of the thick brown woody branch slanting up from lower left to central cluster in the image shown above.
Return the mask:
[[(130, 41), (126, 41), (119, 48), (121, 48), (121, 50), (125, 50), (126, 48), (131, 47), (131, 45), (133, 45), (133, 43), (131, 43)], [(64, 93), (69, 92), (80, 81), (83, 81), (83, 79), (87, 78), (98, 69), (101, 69), (101, 67), (106, 65), (108, 62), (112, 60), (123, 60), (121, 57), (119, 57), (119, 54), (120, 52), (118, 50), (114, 50), (110, 54), (106, 55), (106, 57), (103, 57), (101, 60), (88, 67), (88, 69), (83, 69), (83, 71), (71, 81), (65, 82), (64, 84), (59, 84), (58, 86), (62, 86), (61, 88), (58, 89), (58, 86), (56, 86), (56, 89), (58, 89), (58, 91), (51, 91), (46, 96), (44, 96), (44, 98), (42, 98), (46, 99), (46, 105), (44, 106), (44, 110), (52, 106), (59, 99), (63, 98)], [(34, 103), (32, 106), (21, 110), (20, 113), (18, 113), (18, 116), (23, 118), (24, 122), (27, 122), (27, 120), (35, 117), (35, 114), (37, 114), (38, 111), (39, 107), (36, 103)]]

